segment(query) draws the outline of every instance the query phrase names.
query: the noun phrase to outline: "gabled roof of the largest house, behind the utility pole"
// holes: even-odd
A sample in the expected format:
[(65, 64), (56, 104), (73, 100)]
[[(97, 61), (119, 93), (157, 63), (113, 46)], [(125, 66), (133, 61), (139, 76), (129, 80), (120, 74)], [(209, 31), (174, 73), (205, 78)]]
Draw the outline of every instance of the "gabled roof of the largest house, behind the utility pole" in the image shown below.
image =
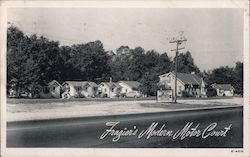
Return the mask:
[[(168, 75), (175, 76), (174, 72), (170, 72), (167, 74), (160, 75), (159, 77), (165, 77)], [(192, 84), (192, 85), (200, 85), (202, 82), (202, 78), (196, 74), (188, 74), (188, 73), (177, 73), (177, 79), (181, 81), (183, 84)], [(204, 82), (205, 83), (205, 82)], [(206, 84), (206, 83), (205, 83)]]

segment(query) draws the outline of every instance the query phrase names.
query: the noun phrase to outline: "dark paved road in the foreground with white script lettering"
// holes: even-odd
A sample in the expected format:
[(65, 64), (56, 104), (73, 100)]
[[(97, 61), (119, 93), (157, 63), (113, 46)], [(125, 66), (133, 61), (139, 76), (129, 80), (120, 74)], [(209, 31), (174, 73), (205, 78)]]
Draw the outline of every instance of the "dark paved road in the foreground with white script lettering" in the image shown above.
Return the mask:
[[(131, 130), (134, 134), (121, 136), (114, 142), (115, 136), (104, 136), (111, 127), (106, 126), (106, 122), (118, 122), (113, 130)], [(146, 139), (146, 133), (149, 133), (146, 130), (154, 122), (158, 123), (153, 129), (155, 136)], [(177, 133), (191, 122), (190, 128), (184, 129), (189, 134), (183, 133), (187, 137), (181, 139)], [(212, 129), (214, 122), (217, 126)], [(157, 130), (158, 133), (172, 132), (157, 134)], [(221, 136), (211, 136), (212, 132)], [(101, 135), (103, 139), (100, 139)], [(8, 122), (7, 147), (242, 148), (243, 107)]]

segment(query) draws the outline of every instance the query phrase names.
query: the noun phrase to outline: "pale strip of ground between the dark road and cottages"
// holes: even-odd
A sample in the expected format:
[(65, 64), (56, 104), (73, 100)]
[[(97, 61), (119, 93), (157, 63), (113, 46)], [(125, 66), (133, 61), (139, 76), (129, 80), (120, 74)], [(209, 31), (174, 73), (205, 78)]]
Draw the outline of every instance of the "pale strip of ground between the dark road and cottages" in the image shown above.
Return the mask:
[(7, 121), (165, 112), (192, 108), (243, 105), (240, 97), (227, 99), (178, 99), (158, 103), (154, 97), (140, 99), (8, 99)]

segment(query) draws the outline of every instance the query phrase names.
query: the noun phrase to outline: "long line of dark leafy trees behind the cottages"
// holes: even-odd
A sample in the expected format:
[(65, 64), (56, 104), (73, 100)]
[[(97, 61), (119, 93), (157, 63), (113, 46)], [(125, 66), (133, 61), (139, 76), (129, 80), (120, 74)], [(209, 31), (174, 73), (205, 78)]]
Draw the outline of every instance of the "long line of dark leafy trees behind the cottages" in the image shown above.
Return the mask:
[[(144, 94), (155, 95), (159, 75), (174, 70), (175, 58), (138, 46), (120, 46), (116, 52), (106, 51), (101, 41), (60, 46), (46, 37), (25, 35), (19, 28), (7, 30), (7, 89), (15, 86), (32, 96), (52, 80), (86, 80), (100, 83), (133, 80), (142, 83)], [(234, 68), (219, 67), (201, 72), (190, 52), (178, 56), (178, 72), (195, 72), (211, 83), (231, 83), (243, 94), (243, 63)]]

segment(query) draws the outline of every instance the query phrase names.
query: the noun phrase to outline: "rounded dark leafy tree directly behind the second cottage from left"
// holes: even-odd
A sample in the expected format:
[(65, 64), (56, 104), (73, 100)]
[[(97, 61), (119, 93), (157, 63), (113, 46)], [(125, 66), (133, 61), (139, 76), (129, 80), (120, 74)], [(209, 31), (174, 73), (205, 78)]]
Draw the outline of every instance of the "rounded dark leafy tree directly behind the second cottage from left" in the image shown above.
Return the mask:
[(68, 61), (74, 68), (74, 79), (94, 81), (106, 80), (110, 75), (109, 59), (103, 44), (97, 40), (73, 45)]

